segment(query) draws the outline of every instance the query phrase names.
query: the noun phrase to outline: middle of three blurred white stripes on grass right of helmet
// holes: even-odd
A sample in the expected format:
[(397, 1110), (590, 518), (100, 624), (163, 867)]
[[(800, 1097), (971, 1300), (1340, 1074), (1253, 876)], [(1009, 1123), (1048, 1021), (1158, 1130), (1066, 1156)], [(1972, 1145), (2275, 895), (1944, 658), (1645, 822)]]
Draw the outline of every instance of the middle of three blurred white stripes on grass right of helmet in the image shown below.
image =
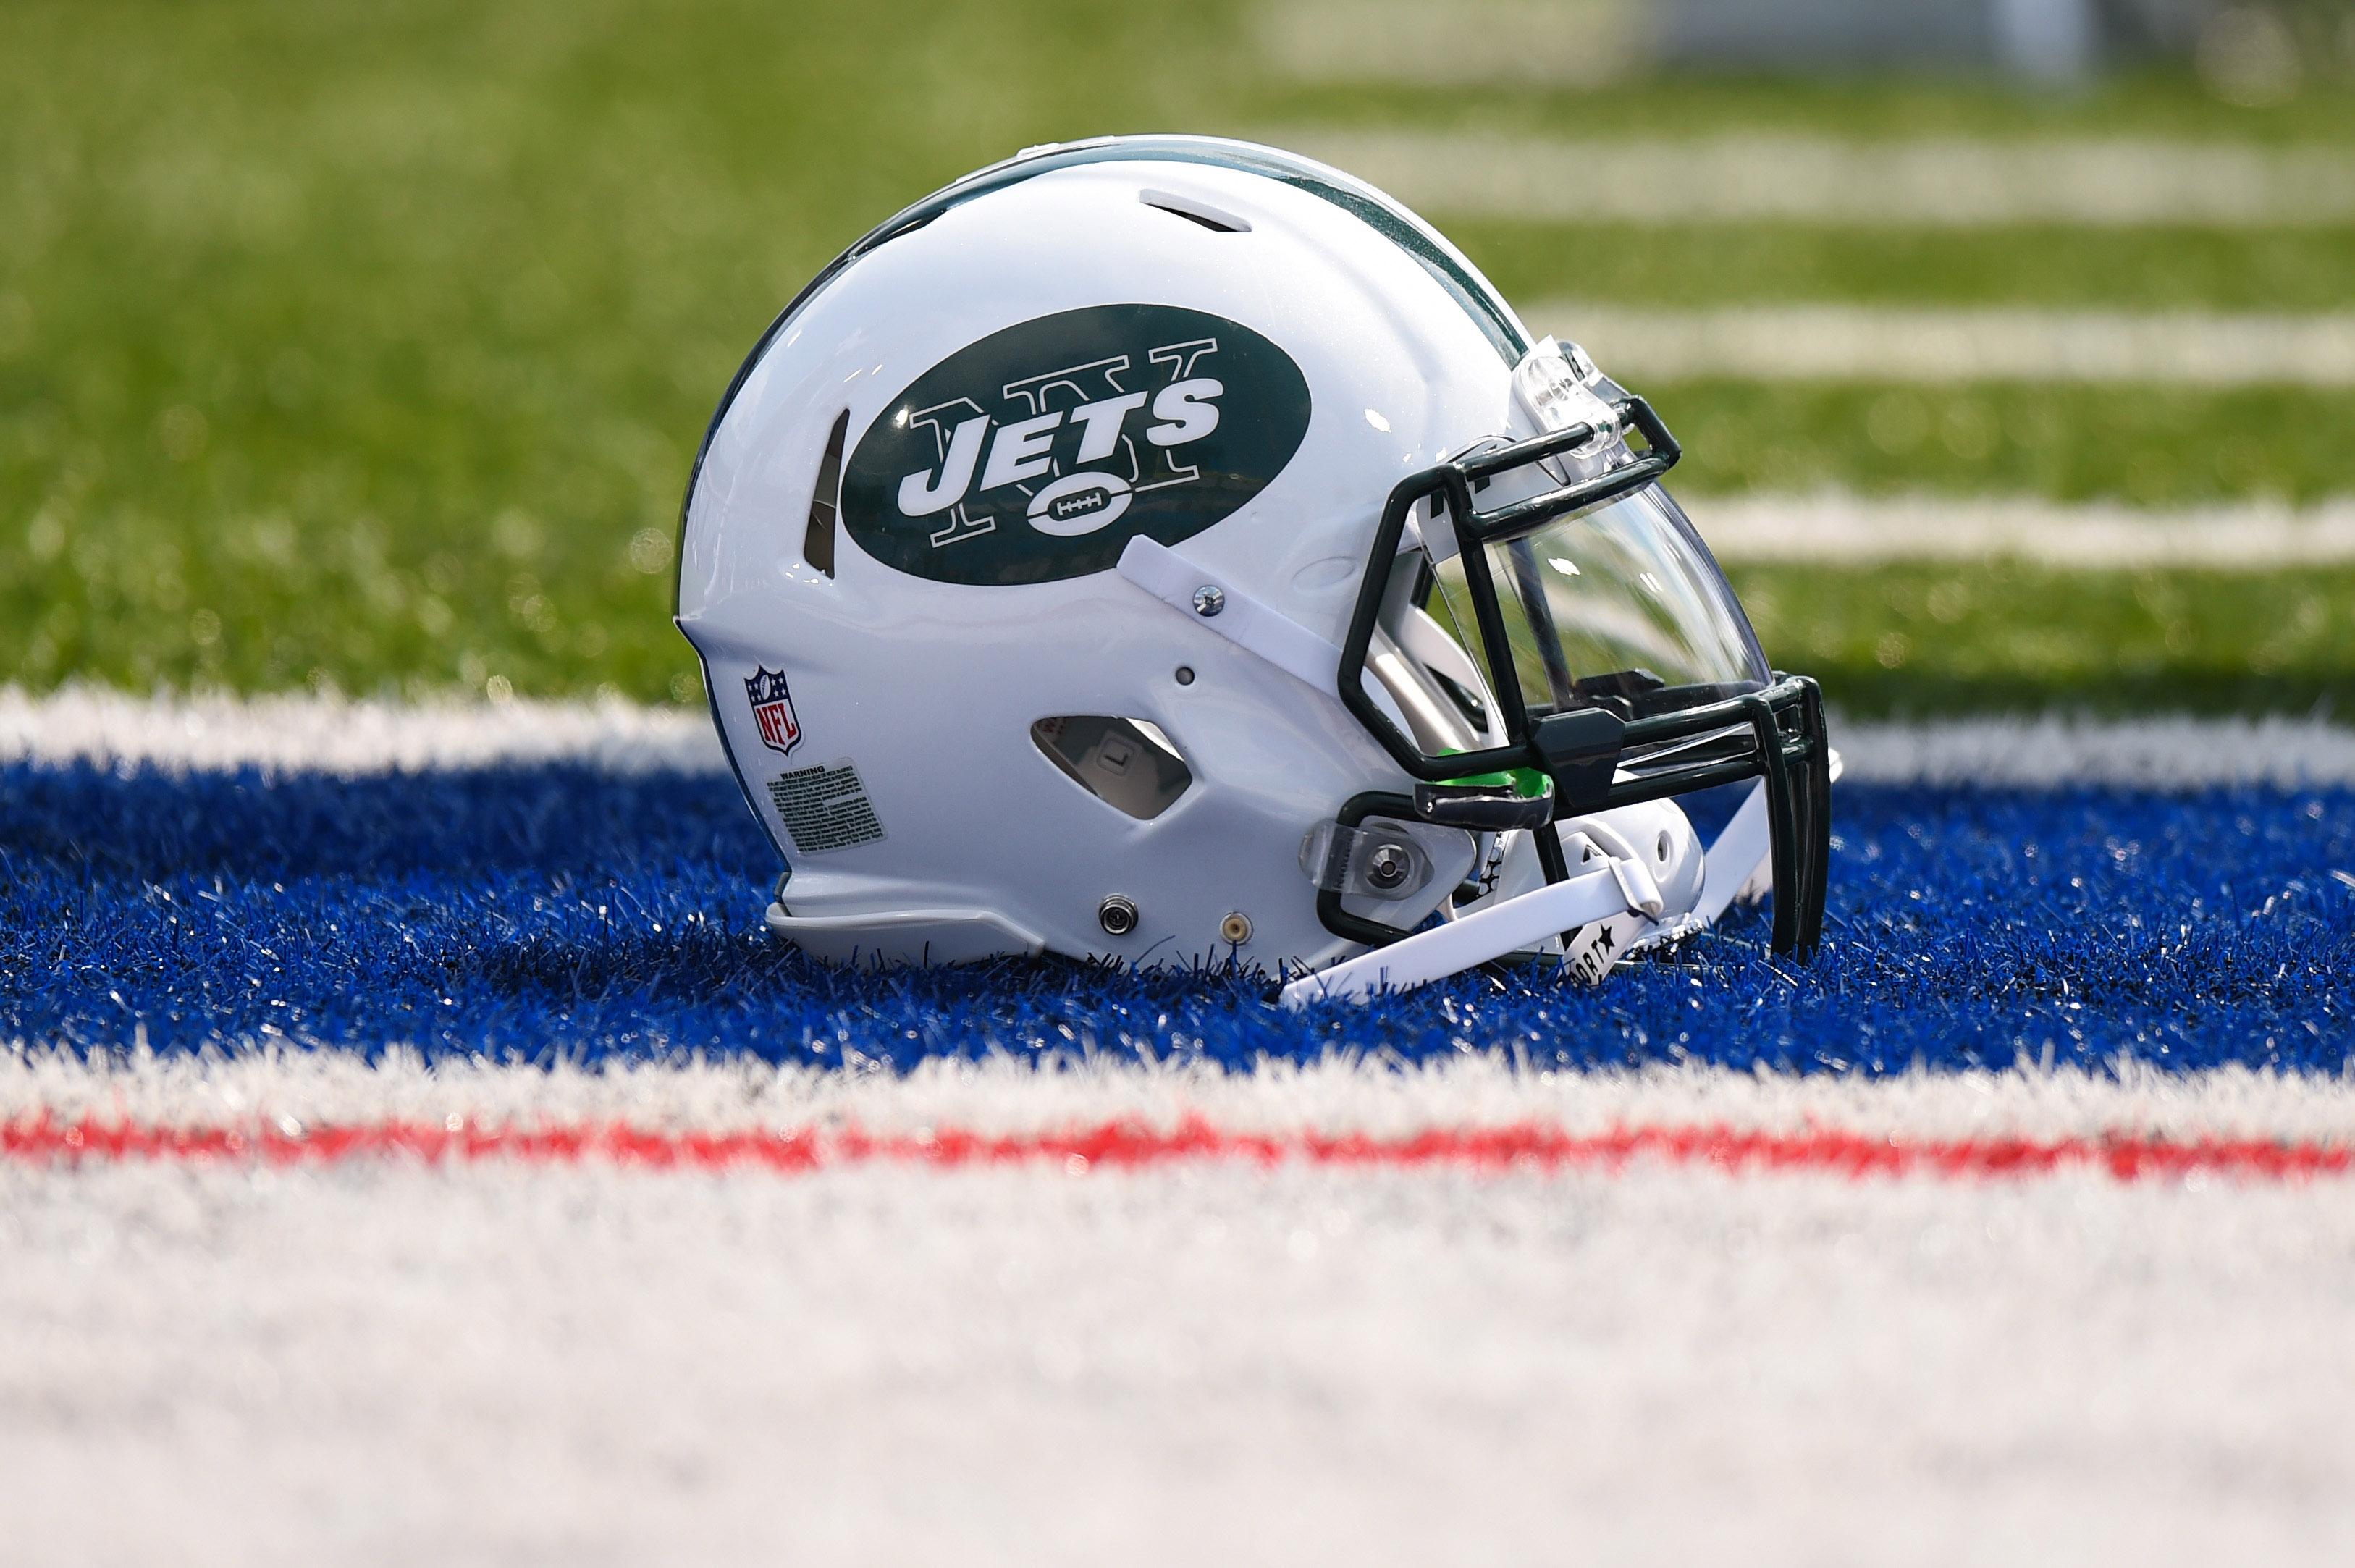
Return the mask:
[(1630, 386), (1745, 381), (2089, 381), (2355, 386), (2355, 313), (1726, 306), (1547, 299), (1535, 332), (1583, 344)]

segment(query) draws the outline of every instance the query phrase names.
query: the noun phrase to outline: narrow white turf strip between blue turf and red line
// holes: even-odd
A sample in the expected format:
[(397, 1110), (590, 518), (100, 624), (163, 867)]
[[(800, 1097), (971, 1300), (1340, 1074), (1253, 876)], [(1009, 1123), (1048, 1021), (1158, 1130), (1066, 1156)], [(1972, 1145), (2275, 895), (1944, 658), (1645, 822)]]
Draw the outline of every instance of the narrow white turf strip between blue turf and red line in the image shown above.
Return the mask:
[(1729, 1128), (1868, 1137), (2355, 1142), (2355, 1078), (2223, 1067), (2167, 1074), (2120, 1062), (2079, 1069), (1903, 1074), (1750, 1074), (1724, 1067), (1531, 1071), (1502, 1052), (1415, 1067), (1328, 1057), (1248, 1071), (1173, 1062), (926, 1059), (907, 1074), (772, 1067), (749, 1059), (603, 1067), (440, 1062), (393, 1050), (252, 1045), (203, 1057), (0, 1048), (0, 1123), (132, 1121), (165, 1128), (283, 1130), (382, 1121), (535, 1128), (624, 1121), (662, 1132), (876, 1135), (958, 1128), (1022, 1137), (1130, 1121), (1170, 1132), (1189, 1118), (1234, 1135), (1368, 1135), (1543, 1125), (1571, 1137), (1616, 1128)]

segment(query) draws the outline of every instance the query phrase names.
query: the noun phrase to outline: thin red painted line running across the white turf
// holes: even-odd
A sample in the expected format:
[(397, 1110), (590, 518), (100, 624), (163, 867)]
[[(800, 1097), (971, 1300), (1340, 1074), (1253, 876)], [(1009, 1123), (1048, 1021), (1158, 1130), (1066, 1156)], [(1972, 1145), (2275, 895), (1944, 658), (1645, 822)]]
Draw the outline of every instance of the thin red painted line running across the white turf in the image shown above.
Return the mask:
[(0, 1156), (21, 1163), (92, 1161), (243, 1161), (266, 1165), (334, 1165), (360, 1158), (426, 1163), (523, 1161), (530, 1165), (645, 1165), (730, 1170), (754, 1165), (782, 1172), (838, 1165), (1020, 1165), (1062, 1163), (1072, 1170), (1140, 1170), (1175, 1161), (1251, 1165), (1349, 1165), (1477, 1170), (1601, 1168), (1634, 1161), (1714, 1170), (1818, 1170), (1846, 1177), (2030, 1177), (2056, 1170), (2103, 1170), (2117, 1180), (2230, 1177), (2294, 1180), (2355, 1170), (2355, 1147), (2280, 1140), (2162, 1140), (2134, 1132), (2101, 1137), (1964, 1137), (1915, 1140), (1837, 1130), (1743, 1132), (1733, 1128), (1616, 1128), (1564, 1132), (1543, 1123), (1500, 1128), (1429, 1128), (1411, 1137), (1366, 1132), (1227, 1132), (1199, 1118), (1175, 1128), (1107, 1121), (1060, 1132), (864, 1132), (824, 1128), (803, 1132), (664, 1132), (629, 1123), (478, 1125), (370, 1121), (309, 1125), (294, 1132), (271, 1123), (243, 1128), (172, 1128), (134, 1121), (57, 1121), (49, 1114), (0, 1123)]

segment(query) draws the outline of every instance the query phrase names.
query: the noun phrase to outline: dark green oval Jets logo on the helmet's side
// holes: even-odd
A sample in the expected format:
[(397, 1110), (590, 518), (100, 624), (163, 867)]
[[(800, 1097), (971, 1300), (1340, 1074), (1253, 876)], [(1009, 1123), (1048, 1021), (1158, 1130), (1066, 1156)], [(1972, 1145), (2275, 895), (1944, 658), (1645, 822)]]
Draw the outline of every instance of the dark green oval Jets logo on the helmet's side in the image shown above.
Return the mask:
[(1003, 586), (1104, 572), (1267, 490), (1309, 428), (1291, 356), (1222, 315), (1093, 306), (958, 348), (893, 398), (843, 471), (883, 565)]

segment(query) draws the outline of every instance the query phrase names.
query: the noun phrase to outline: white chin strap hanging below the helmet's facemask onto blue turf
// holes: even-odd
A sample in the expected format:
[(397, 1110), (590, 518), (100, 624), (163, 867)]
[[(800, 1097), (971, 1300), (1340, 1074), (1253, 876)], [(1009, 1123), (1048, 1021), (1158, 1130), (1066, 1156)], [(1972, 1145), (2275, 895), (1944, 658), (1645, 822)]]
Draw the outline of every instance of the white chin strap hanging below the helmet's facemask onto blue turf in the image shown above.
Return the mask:
[[(1328, 970), (1302, 975), (1283, 986), (1281, 1001), (1286, 1008), (1305, 1008), (1316, 1001), (1366, 1001), (1382, 991), (1411, 991), (1597, 923), (1618, 923), (1632, 930), (1620, 951), (1658, 939), (1663, 932), (1684, 935), (1712, 925), (1745, 892), (1764, 897), (1773, 885), (1771, 848), (1773, 831), (1766, 826), (1766, 782), (1762, 779), (1750, 786), (1733, 822), (1703, 855), (1700, 897), (1693, 902), (1693, 911), (1672, 925), (1660, 925), (1665, 906), (1651, 866), (1594, 848), (1583, 862), (1597, 866), (1592, 871), (1500, 899)], [(1601, 970), (1608, 970), (1608, 961)], [(1599, 979), (1601, 970), (1592, 977)]]

